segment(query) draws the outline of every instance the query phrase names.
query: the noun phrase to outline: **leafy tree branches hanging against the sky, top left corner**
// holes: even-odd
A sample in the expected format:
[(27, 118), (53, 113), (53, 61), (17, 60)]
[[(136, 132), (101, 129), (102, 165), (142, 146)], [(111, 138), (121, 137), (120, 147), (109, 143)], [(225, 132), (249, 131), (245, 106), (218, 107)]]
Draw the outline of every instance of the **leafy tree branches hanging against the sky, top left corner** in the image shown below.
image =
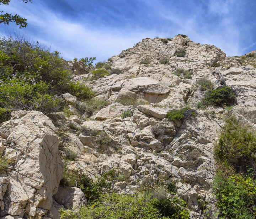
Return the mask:
[[(11, 0), (0, 0), (0, 5), (9, 5)], [(31, 0), (21, 0), (25, 3), (31, 2)], [(32, 3), (32, 2), (31, 2)], [(4, 13), (4, 11), (0, 11), (0, 23), (4, 23), (4, 25), (9, 25), (10, 22), (15, 22), (16, 25), (19, 25), (20, 29), (27, 26), (27, 19), (16, 15)]]

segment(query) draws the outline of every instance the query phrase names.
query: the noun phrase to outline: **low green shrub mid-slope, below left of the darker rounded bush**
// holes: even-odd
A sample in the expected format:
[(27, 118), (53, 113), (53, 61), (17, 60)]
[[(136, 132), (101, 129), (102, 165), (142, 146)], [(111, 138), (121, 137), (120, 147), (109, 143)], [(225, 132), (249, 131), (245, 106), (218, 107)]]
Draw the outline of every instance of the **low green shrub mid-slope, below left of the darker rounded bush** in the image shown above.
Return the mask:
[(170, 110), (167, 112), (167, 119), (171, 121), (185, 121), (190, 116), (196, 116), (196, 110), (186, 106), (180, 110)]

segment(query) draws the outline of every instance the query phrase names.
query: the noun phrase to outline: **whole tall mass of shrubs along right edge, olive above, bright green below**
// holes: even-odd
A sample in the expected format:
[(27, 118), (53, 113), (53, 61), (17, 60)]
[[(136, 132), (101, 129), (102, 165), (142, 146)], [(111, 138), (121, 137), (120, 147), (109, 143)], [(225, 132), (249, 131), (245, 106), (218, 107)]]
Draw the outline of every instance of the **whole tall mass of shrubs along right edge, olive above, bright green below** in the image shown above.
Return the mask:
[(255, 218), (255, 130), (234, 117), (226, 118), (214, 153), (218, 169), (213, 189), (219, 218)]

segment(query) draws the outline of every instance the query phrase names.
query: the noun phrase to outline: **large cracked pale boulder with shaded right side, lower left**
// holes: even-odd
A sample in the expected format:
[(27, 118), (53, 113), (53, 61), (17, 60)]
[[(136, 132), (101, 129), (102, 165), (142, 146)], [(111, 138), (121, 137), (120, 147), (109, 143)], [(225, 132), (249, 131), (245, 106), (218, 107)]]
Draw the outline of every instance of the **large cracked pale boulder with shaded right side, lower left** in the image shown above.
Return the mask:
[(12, 161), (0, 175), (0, 215), (41, 218), (51, 208), (63, 177), (59, 138), (52, 121), (41, 112), (15, 111), (11, 115), (0, 129), (6, 139), (4, 154)]

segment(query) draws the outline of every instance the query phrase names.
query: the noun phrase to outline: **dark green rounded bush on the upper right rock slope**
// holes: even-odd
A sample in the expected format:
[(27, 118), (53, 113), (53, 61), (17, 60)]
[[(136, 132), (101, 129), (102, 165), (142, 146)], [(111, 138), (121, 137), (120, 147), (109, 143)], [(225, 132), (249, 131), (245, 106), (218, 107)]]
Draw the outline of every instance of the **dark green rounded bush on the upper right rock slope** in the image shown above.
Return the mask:
[(203, 106), (222, 107), (223, 105), (231, 105), (236, 101), (235, 92), (228, 86), (220, 86), (215, 90), (209, 90), (202, 98)]

